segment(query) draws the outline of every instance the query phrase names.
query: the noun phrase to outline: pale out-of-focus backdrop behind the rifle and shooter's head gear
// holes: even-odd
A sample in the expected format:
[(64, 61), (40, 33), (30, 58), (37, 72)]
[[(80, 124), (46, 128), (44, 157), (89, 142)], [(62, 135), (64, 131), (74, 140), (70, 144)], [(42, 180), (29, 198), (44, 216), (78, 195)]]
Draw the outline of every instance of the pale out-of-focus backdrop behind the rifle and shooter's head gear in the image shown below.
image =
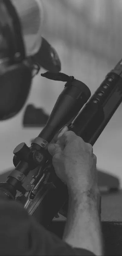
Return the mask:
[[(56, 49), (61, 72), (84, 82), (93, 94), (106, 74), (122, 58), (122, 0), (45, 0), (42, 36)], [(30, 145), (43, 127), (25, 128), (28, 104), (50, 114), (64, 82), (40, 76), (33, 79), (28, 101), (14, 118), (0, 123), (0, 173), (13, 168), (13, 150)], [(97, 168), (116, 175), (122, 188), (122, 105), (95, 143)]]

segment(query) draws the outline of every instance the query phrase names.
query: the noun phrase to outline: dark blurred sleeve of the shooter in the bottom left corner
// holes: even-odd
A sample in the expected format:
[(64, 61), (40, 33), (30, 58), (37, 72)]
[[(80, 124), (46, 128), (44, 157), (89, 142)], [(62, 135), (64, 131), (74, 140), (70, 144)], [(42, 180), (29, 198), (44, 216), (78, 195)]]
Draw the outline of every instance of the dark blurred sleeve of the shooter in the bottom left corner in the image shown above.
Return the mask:
[(72, 248), (15, 201), (0, 200), (0, 255), (94, 255)]

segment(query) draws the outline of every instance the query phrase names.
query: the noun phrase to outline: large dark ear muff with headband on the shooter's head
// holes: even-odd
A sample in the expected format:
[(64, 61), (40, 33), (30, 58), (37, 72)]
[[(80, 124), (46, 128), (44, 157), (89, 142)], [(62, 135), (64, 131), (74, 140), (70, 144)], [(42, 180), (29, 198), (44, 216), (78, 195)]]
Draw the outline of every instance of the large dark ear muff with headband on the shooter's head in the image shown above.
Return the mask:
[(25, 56), (18, 14), (10, 0), (0, 0), (0, 120), (21, 110), (31, 80), (32, 65)]

